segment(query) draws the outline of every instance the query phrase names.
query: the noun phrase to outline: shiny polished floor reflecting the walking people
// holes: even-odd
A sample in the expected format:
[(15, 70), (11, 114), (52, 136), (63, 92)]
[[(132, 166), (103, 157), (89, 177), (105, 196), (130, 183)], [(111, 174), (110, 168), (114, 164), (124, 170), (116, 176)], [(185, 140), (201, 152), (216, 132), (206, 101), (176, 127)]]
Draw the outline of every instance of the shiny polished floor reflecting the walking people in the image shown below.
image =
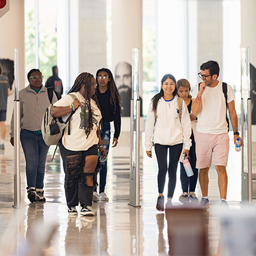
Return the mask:
[[(122, 133), (118, 147), (109, 153), (106, 187), (109, 202), (93, 203), (94, 217), (70, 218), (58, 151), (51, 162), (54, 147), (49, 150), (45, 173), (46, 202), (36, 204), (29, 204), (26, 196), (21, 150), (22, 199), (18, 209), (13, 207), (13, 148), (6, 136), (5, 150), (0, 152), (0, 255), (200, 255), (198, 248), (204, 248), (202, 255), (255, 255), (252, 244), (256, 236), (256, 211), (252, 205), (241, 204), (241, 152), (236, 152), (232, 143), (227, 168), (229, 208), (223, 211), (219, 207), (218, 178), (211, 167), (211, 203), (202, 214), (196, 209), (180, 208), (179, 168), (173, 196), (175, 209), (156, 211), (156, 157), (150, 159), (145, 154), (143, 133), (141, 207), (129, 205), (129, 141), (129, 133)], [(196, 195), (201, 196), (199, 184)]]

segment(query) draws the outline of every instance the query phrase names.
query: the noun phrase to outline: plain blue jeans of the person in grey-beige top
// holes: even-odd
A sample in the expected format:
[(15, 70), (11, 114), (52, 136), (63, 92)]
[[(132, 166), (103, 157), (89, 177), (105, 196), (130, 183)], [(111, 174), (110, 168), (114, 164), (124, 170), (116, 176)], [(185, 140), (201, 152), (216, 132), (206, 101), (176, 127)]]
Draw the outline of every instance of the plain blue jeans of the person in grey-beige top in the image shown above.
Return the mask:
[(26, 159), (27, 189), (42, 189), (49, 147), (45, 144), (42, 134), (35, 134), (26, 129), (20, 130), (20, 142)]

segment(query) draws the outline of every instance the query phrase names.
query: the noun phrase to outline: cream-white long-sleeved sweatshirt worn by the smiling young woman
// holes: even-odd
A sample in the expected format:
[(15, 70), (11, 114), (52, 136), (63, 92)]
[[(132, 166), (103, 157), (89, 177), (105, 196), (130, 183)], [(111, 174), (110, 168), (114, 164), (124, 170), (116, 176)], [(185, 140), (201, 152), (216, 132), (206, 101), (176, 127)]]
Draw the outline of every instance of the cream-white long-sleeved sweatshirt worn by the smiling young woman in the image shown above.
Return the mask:
[(163, 97), (157, 104), (157, 119), (152, 111), (152, 101), (148, 108), (148, 116), (145, 124), (145, 147), (150, 151), (153, 142), (161, 145), (176, 145), (184, 143), (184, 148), (191, 147), (191, 121), (188, 108), (182, 100), (182, 115), (179, 119), (177, 95), (171, 102), (166, 102)]

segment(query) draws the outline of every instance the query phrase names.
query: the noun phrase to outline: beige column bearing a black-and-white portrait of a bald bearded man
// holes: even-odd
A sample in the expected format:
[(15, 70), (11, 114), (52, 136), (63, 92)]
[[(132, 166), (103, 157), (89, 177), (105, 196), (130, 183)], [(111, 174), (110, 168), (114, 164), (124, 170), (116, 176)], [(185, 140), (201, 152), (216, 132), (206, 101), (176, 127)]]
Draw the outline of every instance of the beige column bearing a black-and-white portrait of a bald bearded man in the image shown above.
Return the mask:
[[(142, 0), (112, 0), (112, 70), (122, 97), (124, 116), (130, 116), (132, 48), (140, 48), (140, 97), (142, 99)], [(142, 105), (141, 105), (142, 108)], [(129, 121), (122, 118), (122, 131)]]

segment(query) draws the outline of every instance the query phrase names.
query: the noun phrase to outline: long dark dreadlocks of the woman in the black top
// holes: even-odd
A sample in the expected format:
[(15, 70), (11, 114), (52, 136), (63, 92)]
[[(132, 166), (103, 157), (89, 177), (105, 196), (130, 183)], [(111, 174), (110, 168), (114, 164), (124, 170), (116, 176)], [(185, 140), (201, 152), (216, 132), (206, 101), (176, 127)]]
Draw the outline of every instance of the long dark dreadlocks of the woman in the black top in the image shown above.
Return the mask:
[[(115, 106), (114, 113), (115, 113), (115, 110), (116, 110), (116, 97), (117, 97), (119, 108), (120, 108), (120, 113), (122, 114), (123, 113), (122, 112), (122, 108), (121, 108), (122, 99), (121, 99), (121, 96), (118, 93), (118, 90), (116, 88), (116, 83), (115, 83), (113, 74), (111, 73), (111, 71), (108, 68), (100, 68), (97, 71), (97, 73), (96, 73), (96, 78), (99, 76), (99, 73), (101, 71), (106, 72), (108, 74), (109, 78), (110, 78), (110, 81), (108, 82), (108, 87), (110, 88), (110, 104), (111, 105), (114, 104), (114, 106)], [(97, 83), (97, 88), (99, 88), (99, 81), (98, 81), (98, 79), (96, 79), (96, 83)]]

